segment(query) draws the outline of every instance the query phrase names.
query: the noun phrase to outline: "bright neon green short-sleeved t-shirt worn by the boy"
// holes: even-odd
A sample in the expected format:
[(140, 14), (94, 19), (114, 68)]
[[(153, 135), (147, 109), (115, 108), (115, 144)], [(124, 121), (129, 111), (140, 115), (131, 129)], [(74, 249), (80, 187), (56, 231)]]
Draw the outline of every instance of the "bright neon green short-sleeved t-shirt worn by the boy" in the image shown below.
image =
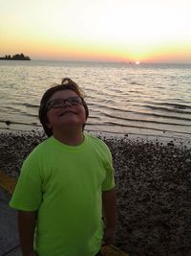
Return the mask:
[(93, 256), (102, 235), (102, 191), (115, 187), (112, 156), (85, 134), (71, 147), (53, 137), (25, 160), (10, 205), (38, 211), (34, 246), (39, 256)]

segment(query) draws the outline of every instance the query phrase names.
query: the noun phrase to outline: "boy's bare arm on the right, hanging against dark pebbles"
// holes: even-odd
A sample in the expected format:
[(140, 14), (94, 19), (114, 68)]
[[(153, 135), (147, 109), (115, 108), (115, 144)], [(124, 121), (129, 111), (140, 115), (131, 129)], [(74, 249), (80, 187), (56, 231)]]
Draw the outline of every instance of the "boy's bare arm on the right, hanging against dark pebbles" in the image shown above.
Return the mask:
[(115, 237), (117, 224), (117, 205), (116, 205), (116, 190), (103, 191), (102, 204), (106, 228), (104, 231), (103, 241), (107, 244), (112, 244)]

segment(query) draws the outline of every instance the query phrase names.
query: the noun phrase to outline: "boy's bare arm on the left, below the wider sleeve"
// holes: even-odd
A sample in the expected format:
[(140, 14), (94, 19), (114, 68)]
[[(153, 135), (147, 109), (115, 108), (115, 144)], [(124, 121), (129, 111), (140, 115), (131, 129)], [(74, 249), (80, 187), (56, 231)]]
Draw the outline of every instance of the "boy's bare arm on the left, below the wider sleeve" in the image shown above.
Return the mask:
[(37, 256), (33, 250), (37, 212), (18, 212), (18, 228), (23, 256)]

